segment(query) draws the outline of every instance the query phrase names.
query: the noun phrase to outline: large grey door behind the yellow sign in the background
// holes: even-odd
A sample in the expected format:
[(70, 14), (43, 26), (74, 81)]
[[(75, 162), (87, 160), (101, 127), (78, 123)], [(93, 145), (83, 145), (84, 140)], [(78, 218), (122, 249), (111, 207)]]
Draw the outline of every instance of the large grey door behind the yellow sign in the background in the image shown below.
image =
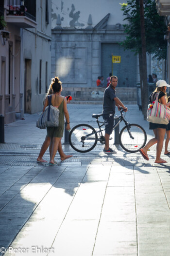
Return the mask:
[(136, 56), (118, 43), (102, 43), (102, 74), (104, 83), (112, 73), (112, 54), (121, 56), (121, 62), (113, 63), (113, 75), (118, 77), (119, 87), (136, 87)]

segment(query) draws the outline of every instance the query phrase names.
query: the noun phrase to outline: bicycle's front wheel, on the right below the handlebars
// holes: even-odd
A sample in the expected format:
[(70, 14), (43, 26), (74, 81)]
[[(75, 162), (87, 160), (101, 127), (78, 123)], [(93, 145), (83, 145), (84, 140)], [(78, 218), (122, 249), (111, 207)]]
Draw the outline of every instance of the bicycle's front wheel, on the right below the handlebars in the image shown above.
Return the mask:
[(146, 144), (147, 135), (142, 126), (128, 124), (123, 127), (119, 134), (120, 146), (129, 153), (135, 153)]

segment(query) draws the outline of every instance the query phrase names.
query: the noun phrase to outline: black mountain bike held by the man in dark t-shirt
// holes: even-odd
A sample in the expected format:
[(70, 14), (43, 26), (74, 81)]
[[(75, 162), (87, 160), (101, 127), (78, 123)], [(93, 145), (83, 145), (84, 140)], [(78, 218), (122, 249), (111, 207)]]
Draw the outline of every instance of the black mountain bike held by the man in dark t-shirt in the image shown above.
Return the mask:
[[(119, 125), (121, 121), (124, 121), (125, 126), (119, 133), (120, 146), (129, 153), (136, 153), (139, 149), (143, 148), (146, 144), (147, 135), (145, 130), (139, 124), (130, 124), (125, 119), (125, 112), (123, 109), (120, 110), (120, 115), (114, 119), (116, 124), (113, 130)], [(92, 117), (96, 118), (99, 129), (95, 130), (89, 124), (78, 124), (74, 126), (69, 133), (69, 144), (77, 152), (85, 153), (91, 151), (99, 141), (104, 144), (104, 136), (102, 132), (105, 129), (101, 129), (104, 126), (104, 122), (98, 120), (102, 114), (93, 114)], [(101, 125), (100, 125), (101, 123)], [(98, 138), (99, 136), (99, 138)], [(112, 138), (110, 138), (112, 139)]]

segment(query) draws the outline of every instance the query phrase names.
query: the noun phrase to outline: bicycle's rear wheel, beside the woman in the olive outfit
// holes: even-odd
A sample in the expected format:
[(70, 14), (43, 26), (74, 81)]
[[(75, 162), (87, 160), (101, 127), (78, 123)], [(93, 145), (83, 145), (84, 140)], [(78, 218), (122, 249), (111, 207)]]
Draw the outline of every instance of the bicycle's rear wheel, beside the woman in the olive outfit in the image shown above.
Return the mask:
[(89, 152), (97, 142), (97, 133), (89, 124), (78, 124), (69, 133), (69, 144), (77, 152)]

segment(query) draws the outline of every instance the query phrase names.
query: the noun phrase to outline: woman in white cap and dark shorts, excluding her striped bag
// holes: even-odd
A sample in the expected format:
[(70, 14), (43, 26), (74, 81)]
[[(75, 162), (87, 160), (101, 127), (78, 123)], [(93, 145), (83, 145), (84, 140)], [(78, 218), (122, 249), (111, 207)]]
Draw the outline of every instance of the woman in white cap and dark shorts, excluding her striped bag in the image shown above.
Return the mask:
[[(156, 89), (149, 97), (150, 103), (153, 102), (153, 99), (156, 97), (156, 93), (159, 92), (159, 97), (158, 97), (159, 103), (164, 104), (169, 107), (170, 102), (167, 103), (166, 98), (165, 98), (167, 87), (170, 87), (170, 85), (167, 84), (166, 81), (164, 81), (164, 80), (157, 81)], [(148, 141), (148, 143), (145, 145), (145, 147), (139, 150), (140, 154), (142, 155), (142, 157), (144, 159), (149, 160), (147, 151), (151, 146), (153, 146), (154, 144), (157, 143), (155, 163), (167, 163), (166, 160), (161, 158), (161, 152), (162, 152), (162, 147), (163, 147), (163, 143), (164, 143), (166, 128), (167, 128), (166, 124), (158, 124), (158, 123), (149, 122), (149, 129), (153, 130), (154, 138), (150, 139)]]

